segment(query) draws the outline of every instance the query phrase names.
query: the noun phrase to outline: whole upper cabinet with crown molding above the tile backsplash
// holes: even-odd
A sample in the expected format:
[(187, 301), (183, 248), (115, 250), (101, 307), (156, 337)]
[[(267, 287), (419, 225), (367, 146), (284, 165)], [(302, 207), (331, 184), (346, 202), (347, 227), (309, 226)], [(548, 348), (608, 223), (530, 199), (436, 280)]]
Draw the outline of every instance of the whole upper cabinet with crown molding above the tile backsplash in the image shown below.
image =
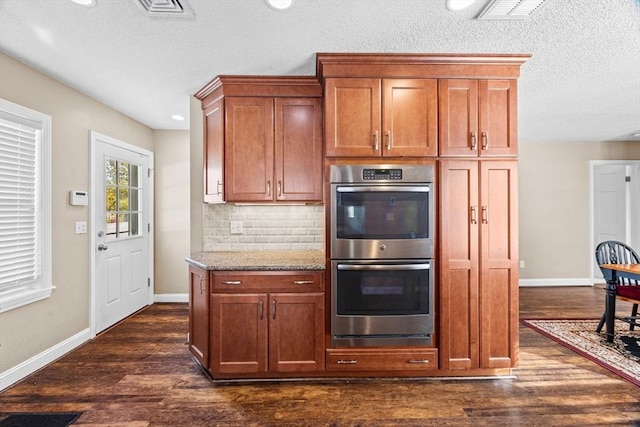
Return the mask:
[(221, 76), (204, 113), (204, 201), (322, 201), (322, 90), (310, 77)]

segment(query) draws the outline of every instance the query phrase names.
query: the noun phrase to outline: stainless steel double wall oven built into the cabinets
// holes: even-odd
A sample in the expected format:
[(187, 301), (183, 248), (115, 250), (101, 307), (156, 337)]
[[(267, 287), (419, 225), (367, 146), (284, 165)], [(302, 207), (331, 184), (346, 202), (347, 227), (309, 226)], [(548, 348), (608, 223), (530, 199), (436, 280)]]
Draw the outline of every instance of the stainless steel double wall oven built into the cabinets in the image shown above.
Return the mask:
[(434, 166), (332, 165), (330, 181), (333, 344), (430, 345)]

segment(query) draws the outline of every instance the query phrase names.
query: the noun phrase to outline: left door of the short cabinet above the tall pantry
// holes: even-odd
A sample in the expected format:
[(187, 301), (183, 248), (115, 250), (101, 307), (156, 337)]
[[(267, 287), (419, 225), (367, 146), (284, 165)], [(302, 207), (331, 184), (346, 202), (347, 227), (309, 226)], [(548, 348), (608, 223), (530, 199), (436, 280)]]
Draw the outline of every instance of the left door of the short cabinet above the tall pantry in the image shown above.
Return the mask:
[(441, 156), (478, 155), (478, 82), (439, 81), (439, 141)]

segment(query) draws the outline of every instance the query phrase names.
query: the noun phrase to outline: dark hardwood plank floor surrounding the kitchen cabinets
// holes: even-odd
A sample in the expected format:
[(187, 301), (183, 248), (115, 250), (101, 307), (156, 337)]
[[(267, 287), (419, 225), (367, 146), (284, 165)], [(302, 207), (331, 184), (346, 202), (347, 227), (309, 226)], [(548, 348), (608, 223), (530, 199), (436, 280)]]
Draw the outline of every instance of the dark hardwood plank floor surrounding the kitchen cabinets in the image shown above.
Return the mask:
[[(599, 317), (604, 292), (522, 288), (522, 318)], [(628, 310), (621, 303), (620, 310)], [(13, 412), (78, 411), (101, 426), (637, 426), (640, 388), (520, 326), (515, 379), (213, 385), (185, 338), (186, 304), (155, 304), (0, 394)]]

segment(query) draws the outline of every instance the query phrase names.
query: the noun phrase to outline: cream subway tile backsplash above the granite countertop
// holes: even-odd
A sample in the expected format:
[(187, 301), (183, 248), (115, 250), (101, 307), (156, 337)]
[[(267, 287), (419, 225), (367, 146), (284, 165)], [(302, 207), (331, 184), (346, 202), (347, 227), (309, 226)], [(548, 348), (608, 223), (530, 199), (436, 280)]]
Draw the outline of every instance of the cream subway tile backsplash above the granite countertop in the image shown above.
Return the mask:
[(202, 232), (203, 251), (323, 250), (324, 206), (204, 204)]

